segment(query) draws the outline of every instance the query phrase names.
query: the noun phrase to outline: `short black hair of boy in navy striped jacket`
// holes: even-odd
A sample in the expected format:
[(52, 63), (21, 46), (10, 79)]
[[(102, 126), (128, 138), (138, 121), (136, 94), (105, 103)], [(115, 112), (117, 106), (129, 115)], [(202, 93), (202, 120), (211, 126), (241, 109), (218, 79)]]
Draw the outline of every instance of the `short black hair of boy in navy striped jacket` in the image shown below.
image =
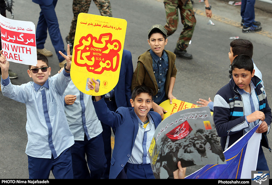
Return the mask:
[(238, 55), (234, 58), (232, 64), (231, 64), (231, 69), (232, 71), (235, 69), (245, 69), (247, 71), (250, 71), (251, 74), (254, 70), (254, 65), (253, 61), (250, 56), (248, 55)]

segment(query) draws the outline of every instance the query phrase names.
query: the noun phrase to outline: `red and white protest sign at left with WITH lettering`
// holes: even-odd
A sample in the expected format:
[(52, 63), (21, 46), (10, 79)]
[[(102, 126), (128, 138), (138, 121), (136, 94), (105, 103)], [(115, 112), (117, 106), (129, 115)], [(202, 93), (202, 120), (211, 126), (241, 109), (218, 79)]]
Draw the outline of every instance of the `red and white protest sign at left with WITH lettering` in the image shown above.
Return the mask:
[(37, 64), (35, 25), (30, 21), (0, 16), (1, 45), (8, 61)]

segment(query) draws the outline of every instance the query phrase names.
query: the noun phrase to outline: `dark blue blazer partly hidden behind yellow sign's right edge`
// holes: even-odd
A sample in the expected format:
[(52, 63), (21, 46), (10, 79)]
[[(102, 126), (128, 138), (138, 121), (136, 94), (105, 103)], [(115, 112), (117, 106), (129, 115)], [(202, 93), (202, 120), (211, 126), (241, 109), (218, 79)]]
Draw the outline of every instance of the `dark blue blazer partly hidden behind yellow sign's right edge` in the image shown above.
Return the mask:
[(114, 88), (117, 107), (131, 107), (131, 82), (133, 76), (132, 55), (130, 51), (123, 50), (119, 81)]

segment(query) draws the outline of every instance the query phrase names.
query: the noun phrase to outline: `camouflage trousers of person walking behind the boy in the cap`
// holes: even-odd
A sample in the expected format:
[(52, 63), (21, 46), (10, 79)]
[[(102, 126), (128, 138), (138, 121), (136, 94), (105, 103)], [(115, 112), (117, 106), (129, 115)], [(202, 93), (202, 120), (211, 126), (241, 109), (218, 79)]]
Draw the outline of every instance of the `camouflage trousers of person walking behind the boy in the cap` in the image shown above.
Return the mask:
[(178, 9), (181, 15), (181, 23), (184, 25), (177, 41), (176, 49), (186, 51), (189, 41), (191, 40), (196, 25), (196, 19), (193, 11), (191, 0), (164, 0), (166, 12), (167, 36), (172, 35), (178, 26)]

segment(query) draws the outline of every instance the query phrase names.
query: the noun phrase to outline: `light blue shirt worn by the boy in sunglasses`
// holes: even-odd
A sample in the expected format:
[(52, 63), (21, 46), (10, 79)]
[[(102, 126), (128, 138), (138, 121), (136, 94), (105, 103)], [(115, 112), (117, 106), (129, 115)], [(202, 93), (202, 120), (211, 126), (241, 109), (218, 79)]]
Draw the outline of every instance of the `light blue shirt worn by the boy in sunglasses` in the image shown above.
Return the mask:
[(26, 154), (36, 158), (57, 158), (74, 144), (64, 112), (63, 93), (71, 80), (63, 70), (40, 86), (34, 82), (13, 85), (1, 78), (4, 96), (26, 105)]

